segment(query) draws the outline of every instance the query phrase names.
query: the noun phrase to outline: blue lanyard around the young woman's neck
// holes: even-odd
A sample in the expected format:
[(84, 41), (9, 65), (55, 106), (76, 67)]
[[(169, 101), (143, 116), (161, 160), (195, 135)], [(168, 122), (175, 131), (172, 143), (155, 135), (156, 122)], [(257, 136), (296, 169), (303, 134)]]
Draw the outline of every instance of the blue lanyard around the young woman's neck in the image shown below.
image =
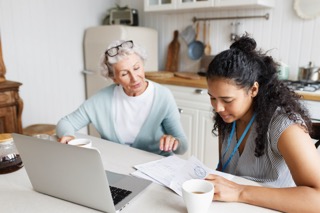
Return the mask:
[[(233, 158), (234, 154), (235, 154), (236, 151), (238, 150), (241, 142), (243, 141), (243, 138), (244, 138), (244, 137), (246, 136), (246, 134), (248, 133), (248, 131), (249, 131), (249, 129), (250, 129), (250, 127), (251, 127), (251, 125), (252, 125), (255, 117), (256, 117), (256, 114), (253, 114), (250, 122), (249, 122), (248, 125), (246, 126), (246, 129), (245, 129), (244, 132), (242, 133), (242, 135), (241, 135), (240, 139), (238, 140), (236, 146), (234, 147), (231, 155), (229, 156), (229, 159), (228, 159), (227, 162), (222, 166), (222, 171), (224, 171), (224, 170), (226, 169), (226, 167), (227, 167), (228, 164), (230, 163), (231, 159)], [(233, 123), (232, 123), (232, 130), (231, 130), (231, 133), (230, 133), (229, 138), (228, 138), (227, 149), (226, 149), (226, 151), (223, 153), (222, 158), (224, 158), (224, 156), (226, 155), (226, 153), (227, 153), (227, 151), (228, 151), (228, 149), (229, 149), (229, 147), (230, 147), (231, 140), (232, 140), (232, 137), (233, 137), (233, 135), (234, 135), (235, 129), (236, 129), (236, 122), (233, 121)], [(222, 164), (222, 163), (221, 163), (221, 164)]]

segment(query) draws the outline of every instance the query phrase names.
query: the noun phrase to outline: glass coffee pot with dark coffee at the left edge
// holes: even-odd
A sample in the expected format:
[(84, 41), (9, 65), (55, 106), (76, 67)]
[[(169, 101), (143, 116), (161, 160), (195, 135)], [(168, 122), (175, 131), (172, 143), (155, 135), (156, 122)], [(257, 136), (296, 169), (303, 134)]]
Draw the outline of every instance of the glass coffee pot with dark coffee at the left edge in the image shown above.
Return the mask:
[(22, 167), (21, 157), (11, 134), (0, 134), (0, 174), (15, 172)]

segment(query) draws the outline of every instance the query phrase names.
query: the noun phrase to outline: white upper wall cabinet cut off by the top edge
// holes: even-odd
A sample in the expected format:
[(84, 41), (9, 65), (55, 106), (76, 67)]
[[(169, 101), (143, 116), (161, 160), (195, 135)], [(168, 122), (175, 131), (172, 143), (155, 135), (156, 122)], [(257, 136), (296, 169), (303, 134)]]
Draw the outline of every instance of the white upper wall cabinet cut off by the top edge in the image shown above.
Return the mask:
[(216, 8), (270, 8), (275, 0), (144, 0), (145, 12)]

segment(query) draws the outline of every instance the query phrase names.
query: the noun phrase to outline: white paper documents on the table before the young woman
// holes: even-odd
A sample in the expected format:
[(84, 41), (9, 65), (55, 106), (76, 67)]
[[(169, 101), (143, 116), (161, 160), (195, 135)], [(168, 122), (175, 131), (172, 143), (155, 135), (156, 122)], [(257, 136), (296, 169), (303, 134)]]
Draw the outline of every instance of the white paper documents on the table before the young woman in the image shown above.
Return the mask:
[(233, 178), (233, 175), (209, 169), (194, 156), (184, 160), (173, 155), (161, 160), (139, 164), (134, 168), (137, 171), (131, 173), (132, 175), (160, 183), (180, 196), (182, 196), (182, 183), (186, 180), (204, 179), (209, 174), (220, 175), (228, 180)]

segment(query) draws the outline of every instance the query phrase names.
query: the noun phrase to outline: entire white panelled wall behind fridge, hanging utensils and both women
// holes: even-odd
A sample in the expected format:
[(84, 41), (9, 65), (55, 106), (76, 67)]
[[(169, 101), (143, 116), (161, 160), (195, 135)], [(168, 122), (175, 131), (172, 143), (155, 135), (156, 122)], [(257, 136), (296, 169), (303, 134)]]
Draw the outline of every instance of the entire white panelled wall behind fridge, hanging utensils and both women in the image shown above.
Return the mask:
[[(56, 123), (85, 99), (83, 34), (100, 25), (107, 9), (117, 2), (139, 10), (139, 23), (159, 31), (159, 67), (165, 67), (173, 31), (192, 24), (192, 17), (262, 15), (270, 19), (239, 20), (264, 50), (290, 66), (296, 79), (298, 67), (313, 60), (320, 66), (320, 18), (300, 19), (293, 0), (277, 0), (271, 10), (224, 10), (189, 13), (143, 13), (143, 0), (0, 0), (0, 33), (8, 80), (22, 82), (23, 126)], [(230, 45), (231, 21), (211, 22), (213, 54)], [(202, 37), (201, 37), (202, 38)], [(181, 41), (182, 71), (196, 72), (198, 61), (188, 59)]]

